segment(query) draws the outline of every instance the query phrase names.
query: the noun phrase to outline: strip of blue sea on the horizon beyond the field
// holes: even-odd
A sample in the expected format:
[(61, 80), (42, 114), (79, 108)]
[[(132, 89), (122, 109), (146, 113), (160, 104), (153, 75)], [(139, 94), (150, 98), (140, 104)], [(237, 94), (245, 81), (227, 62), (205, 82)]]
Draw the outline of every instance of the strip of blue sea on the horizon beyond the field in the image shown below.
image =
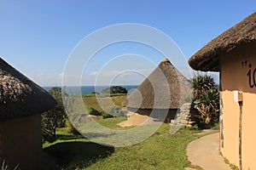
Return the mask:
[[(123, 88), (126, 88), (128, 91), (128, 94), (131, 94), (131, 92), (138, 87), (138, 85), (118, 85)], [(54, 88), (54, 86), (48, 86), (48, 87), (43, 87), (46, 91), (49, 91), (50, 88)], [(71, 92), (72, 94), (90, 94), (92, 92), (97, 92), (99, 94), (102, 93), (102, 89), (104, 88), (109, 88), (109, 86), (73, 86), (73, 87), (67, 87), (66, 91), (67, 93)]]

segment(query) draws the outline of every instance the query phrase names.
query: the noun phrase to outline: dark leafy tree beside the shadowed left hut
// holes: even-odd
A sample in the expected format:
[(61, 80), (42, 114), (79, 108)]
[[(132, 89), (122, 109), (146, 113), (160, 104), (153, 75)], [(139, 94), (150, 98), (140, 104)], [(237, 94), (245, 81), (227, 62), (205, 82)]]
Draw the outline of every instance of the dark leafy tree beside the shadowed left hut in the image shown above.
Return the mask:
[(67, 115), (62, 102), (61, 88), (51, 88), (49, 94), (58, 102), (58, 105), (42, 114), (42, 136), (44, 140), (53, 142), (56, 139), (56, 128), (65, 127)]

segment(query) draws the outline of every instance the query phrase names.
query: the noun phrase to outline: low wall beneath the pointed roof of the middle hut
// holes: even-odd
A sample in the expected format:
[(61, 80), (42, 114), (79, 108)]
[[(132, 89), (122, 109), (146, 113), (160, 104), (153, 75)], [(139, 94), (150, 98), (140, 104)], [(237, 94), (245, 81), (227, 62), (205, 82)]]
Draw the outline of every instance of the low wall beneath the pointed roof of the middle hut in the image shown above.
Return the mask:
[[(154, 110), (154, 115), (152, 114), (152, 110), (151, 109), (137, 109), (137, 108), (128, 108), (129, 111), (131, 112), (136, 112), (140, 115), (146, 115), (146, 116), (152, 116), (156, 119), (162, 120), (163, 117), (165, 116), (166, 110), (164, 109), (155, 109)], [(176, 114), (177, 114), (177, 109), (169, 109), (167, 111), (167, 116), (165, 118), (165, 122), (171, 122), (172, 119), (175, 118)], [(151, 115), (150, 115), (151, 114)]]

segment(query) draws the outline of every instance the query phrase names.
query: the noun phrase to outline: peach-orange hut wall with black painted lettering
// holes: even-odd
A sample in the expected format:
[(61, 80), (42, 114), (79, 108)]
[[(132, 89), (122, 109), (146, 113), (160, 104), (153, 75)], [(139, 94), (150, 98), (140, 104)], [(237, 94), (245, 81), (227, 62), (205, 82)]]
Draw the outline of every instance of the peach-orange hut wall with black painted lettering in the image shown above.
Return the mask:
[(220, 150), (239, 166), (240, 105), (236, 93), (242, 93), (241, 160), (243, 169), (256, 169), (256, 42), (241, 46), (220, 58), (221, 133)]

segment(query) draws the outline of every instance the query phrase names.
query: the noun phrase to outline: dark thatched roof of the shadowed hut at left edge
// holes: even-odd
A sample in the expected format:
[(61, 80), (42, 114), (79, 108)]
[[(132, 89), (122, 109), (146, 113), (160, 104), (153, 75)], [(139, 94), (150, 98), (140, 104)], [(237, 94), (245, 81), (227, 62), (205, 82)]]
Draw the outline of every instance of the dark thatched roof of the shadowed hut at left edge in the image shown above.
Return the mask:
[(0, 120), (41, 114), (56, 104), (43, 88), (0, 58)]

